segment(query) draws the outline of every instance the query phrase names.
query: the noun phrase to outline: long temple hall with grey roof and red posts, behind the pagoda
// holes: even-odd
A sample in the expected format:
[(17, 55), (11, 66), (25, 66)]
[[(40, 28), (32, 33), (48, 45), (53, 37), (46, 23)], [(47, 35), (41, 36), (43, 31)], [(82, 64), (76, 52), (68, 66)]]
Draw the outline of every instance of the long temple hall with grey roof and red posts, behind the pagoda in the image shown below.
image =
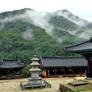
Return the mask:
[(82, 76), (88, 66), (83, 57), (41, 57), (40, 63), (43, 77)]

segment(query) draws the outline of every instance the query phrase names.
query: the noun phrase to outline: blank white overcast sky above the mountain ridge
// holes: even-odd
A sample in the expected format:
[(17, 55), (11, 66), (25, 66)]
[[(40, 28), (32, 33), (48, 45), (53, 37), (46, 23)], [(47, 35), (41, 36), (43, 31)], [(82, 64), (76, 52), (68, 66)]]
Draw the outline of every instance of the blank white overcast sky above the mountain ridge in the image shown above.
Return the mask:
[(22, 8), (36, 11), (67, 9), (84, 19), (92, 21), (92, 0), (1, 0), (0, 12)]

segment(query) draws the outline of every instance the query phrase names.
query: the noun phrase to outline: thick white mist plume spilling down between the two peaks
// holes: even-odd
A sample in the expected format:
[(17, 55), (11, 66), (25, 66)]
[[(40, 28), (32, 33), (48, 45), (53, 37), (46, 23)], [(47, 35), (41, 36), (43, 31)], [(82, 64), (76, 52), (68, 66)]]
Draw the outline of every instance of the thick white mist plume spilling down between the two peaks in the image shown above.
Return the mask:
[(54, 26), (49, 23), (52, 13), (26, 11), (25, 15), (28, 18), (27, 22), (32, 23), (35, 26), (43, 28), (48, 35), (55, 38), (58, 42), (60, 42), (60, 43), (62, 42), (61, 37), (58, 37), (56, 34), (54, 34), (54, 32), (53, 32)]

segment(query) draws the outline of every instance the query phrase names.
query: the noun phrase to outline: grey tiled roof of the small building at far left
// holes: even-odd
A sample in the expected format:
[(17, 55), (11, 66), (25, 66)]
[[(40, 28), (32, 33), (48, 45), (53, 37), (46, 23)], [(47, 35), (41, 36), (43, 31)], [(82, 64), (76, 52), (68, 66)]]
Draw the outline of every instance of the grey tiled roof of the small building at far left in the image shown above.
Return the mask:
[(14, 69), (14, 68), (22, 68), (25, 64), (21, 63), (20, 60), (7, 60), (3, 59), (0, 63), (0, 68), (2, 69)]

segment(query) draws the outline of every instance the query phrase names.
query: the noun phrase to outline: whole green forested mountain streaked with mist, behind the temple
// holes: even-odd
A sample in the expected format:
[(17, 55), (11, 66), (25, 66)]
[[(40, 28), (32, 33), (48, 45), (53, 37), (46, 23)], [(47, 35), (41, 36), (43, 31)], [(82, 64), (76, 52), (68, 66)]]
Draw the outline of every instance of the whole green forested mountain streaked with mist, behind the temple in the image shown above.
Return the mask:
[[(1, 58), (68, 55), (64, 47), (88, 40), (92, 23), (68, 10), (37, 12), (25, 8), (0, 14)], [(27, 54), (26, 54), (27, 53)]]

